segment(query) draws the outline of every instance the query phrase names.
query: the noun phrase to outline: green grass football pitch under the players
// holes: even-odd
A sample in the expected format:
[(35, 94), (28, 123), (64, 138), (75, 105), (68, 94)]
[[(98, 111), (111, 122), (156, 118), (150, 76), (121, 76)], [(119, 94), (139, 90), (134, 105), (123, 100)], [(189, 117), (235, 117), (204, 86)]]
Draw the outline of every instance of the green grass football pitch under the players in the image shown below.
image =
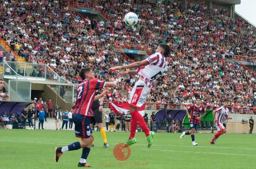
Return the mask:
[[(140, 132), (125, 161), (113, 156), (113, 148), (124, 143), (129, 133), (107, 132), (109, 148), (102, 148), (100, 132), (93, 134), (95, 147), (87, 163), (95, 168), (256, 168), (255, 134), (223, 134), (215, 145), (209, 144), (212, 134), (195, 134), (198, 146), (192, 146), (190, 136), (180, 140), (180, 133), (156, 133), (148, 149)], [(55, 146), (79, 141), (74, 131), (0, 129), (0, 135), (1, 169), (77, 168), (82, 153), (82, 149), (66, 152), (54, 162)]]

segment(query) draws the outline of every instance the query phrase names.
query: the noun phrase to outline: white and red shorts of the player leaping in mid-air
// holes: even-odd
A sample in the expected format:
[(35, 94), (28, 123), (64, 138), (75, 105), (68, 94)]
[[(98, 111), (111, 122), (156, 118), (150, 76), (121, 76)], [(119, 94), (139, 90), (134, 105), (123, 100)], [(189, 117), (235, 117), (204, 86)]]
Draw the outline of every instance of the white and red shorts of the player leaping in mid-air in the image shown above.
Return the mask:
[(145, 84), (144, 81), (138, 80), (130, 94), (128, 104), (140, 108), (146, 101), (150, 88)]

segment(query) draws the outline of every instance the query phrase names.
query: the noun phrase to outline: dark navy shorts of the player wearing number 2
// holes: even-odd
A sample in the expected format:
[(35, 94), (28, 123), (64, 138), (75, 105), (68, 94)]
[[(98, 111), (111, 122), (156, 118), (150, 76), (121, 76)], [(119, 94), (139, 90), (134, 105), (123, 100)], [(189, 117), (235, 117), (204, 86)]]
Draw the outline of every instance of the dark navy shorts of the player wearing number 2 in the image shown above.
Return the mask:
[(75, 134), (79, 138), (89, 138), (92, 130), (90, 128), (90, 118), (83, 114), (72, 114), (72, 119), (75, 124)]

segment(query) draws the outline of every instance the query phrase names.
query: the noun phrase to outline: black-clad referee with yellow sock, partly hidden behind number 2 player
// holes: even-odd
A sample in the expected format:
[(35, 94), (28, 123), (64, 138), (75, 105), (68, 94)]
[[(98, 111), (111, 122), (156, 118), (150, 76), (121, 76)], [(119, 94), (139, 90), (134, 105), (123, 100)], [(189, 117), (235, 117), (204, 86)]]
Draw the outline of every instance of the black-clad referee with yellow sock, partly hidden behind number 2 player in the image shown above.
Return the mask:
[[(98, 95), (98, 94), (100, 94), (99, 91), (97, 91), (96, 95)], [(102, 125), (102, 110), (103, 110), (102, 104), (103, 104), (103, 97), (100, 98), (100, 101), (95, 100), (92, 103), (91, 109), (93, 111), (93, 116), (90, 116), (90, 127), (92, 128), (92, 126), (97, 123), (97, 127), (99, 128), (99, 131), (104, 140), (103, 147), (107, 148), (107, 147), (109, 147), (109, 144), (107, 142), (106, 131)], [(94, 147), (94, 144), (92, 143), (91, 146)]]

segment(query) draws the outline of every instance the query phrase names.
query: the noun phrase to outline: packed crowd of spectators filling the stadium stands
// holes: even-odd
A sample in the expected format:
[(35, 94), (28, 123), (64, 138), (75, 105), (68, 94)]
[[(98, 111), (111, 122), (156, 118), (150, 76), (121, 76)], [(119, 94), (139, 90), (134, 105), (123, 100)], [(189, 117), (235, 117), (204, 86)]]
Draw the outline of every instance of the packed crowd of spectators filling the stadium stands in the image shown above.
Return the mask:
[[(81, 18), (67, 7), (67, 0), (0, 3), (0, 37), (19, 57), (29, 63), (47, 64), (75, 84), (82, 81), (79, 70), (90, 66), (97, 78), (119, 81), (117, 88), (107, 94), (108, 100), (127, 100), (138, 78), (116, 78), (118, 72), (110, 71), (114, 65), (131, 63), (114, 50), (114, 42), (146, 45), (152, 53), (159, 43), (166, 43), (172, 49), (169, 69), (157, 80), (148, 96), (149, 103), (190, 104), (201, 97), (204, 104), (213, 106), (226, 98), (236, 106), (256, 104), (256, 84), (251, 72), (227, 61), (234, 55), (254, 57), (255, 35), (252, 26), (241, 18), (227, 18), (227, 11), (207, 9), (205, 5), (185, 7), (176, 1), (160, 5), (160, 12), (157, 4), (87, 1), (111, 17), (104, 23)], [(134, 27), (124, 24), (124, 15), (129, 11), (139, 16)], [(41, 70), (37, 71), (38, 74)]]

